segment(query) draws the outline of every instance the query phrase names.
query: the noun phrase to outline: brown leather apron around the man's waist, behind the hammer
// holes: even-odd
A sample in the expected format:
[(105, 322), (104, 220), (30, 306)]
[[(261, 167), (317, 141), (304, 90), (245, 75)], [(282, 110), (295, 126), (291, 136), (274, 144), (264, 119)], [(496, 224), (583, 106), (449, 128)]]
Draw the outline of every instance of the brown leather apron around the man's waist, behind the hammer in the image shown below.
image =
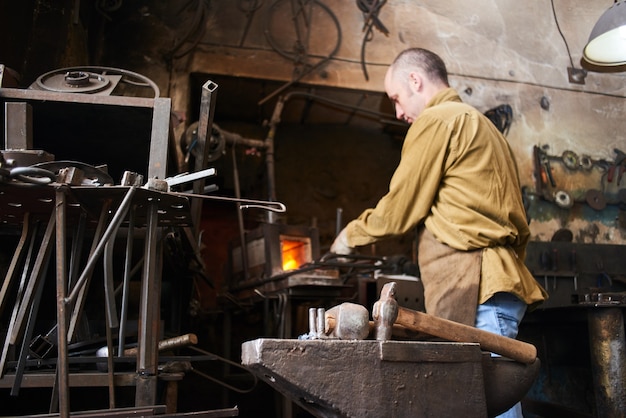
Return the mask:
[(417, 248), (426, 313), (474, 326), (482, 250), (456, 250), (425, 227), (418, 231)]

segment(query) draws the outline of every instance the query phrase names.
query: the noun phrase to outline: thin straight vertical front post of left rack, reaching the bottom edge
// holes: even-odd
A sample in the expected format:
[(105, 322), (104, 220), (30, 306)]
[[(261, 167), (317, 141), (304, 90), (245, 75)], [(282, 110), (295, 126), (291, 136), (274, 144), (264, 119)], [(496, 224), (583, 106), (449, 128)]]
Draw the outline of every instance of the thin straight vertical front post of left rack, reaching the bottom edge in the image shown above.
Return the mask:
[(67, 361), (67, 266), (66, 266), (66, 191), (64, 188), (56, 190), (56, 264), (57, 264), (57, 372), (59, 415), (62, 418), (70, 416), (70, 390), (69, 390), (69, 363)]

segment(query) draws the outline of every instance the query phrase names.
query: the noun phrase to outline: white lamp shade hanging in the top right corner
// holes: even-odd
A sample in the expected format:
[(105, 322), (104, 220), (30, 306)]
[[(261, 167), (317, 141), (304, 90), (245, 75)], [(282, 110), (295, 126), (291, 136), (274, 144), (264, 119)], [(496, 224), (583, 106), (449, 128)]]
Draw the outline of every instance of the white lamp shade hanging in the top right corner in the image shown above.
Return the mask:
[(626, 64), (626, 4), (623, 1), (600, 16), (583, 49), (583, 61), (600, 67)]

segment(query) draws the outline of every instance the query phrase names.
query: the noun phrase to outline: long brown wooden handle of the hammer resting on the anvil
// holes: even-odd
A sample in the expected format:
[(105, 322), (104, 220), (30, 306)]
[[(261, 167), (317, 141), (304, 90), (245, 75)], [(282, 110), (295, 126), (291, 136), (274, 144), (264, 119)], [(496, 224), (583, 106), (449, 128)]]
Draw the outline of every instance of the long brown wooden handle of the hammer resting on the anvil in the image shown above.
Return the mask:
[(395, 323), (450, 341), (478, 343), (486, 351), (525, 364), (537, 358), (537, 348), (532, 344), (403, 307), (398, 307)]

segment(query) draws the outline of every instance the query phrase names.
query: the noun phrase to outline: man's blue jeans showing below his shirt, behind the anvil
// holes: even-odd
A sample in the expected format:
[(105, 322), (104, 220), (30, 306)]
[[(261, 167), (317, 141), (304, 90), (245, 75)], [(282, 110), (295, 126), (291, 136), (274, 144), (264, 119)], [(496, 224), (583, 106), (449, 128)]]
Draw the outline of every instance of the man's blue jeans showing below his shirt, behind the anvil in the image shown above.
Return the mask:
[[(476, 328), (517, 337), (518, 325), (526, 313), (526, 303), (511, 293), (496, 293), (487, 302), (478, 305)], [(518, 402), (511, 409), (498, 415), (498, 418), (523, 418), (522, 405)]]

